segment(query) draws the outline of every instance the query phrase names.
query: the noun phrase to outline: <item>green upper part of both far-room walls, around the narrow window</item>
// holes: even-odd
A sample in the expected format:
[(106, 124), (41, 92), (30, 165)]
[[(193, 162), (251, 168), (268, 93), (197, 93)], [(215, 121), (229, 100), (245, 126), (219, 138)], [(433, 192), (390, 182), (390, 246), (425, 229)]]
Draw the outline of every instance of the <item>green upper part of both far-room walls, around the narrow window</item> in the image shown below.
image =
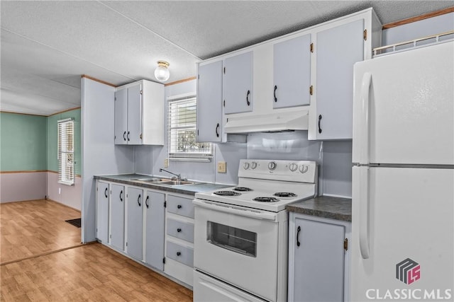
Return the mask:
[(68, 117), (74, 119), (75, 173), (80, 175), (80, 109), (49, 117), (0, 112), (0, 170), (57, 172), (57, 121)]

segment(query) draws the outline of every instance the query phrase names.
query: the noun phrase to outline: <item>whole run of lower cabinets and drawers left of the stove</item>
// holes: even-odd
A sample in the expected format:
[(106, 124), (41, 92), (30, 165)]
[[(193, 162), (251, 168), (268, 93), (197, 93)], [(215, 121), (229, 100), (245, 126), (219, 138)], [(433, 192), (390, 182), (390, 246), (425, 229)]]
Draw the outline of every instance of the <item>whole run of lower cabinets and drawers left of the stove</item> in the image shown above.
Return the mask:
[(96, 180), (96, 238), (123, 255), (192, 286), (192, 199), (185, 194)]

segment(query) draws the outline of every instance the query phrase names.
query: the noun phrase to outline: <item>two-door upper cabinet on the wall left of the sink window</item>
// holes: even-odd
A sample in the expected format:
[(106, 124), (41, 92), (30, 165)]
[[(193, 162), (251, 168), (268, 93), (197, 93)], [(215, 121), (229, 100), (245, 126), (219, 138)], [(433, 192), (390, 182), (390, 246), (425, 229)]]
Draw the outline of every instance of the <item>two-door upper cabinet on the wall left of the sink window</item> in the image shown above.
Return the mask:
[(138, 81), (116, 88), (115, 144), (164, 144), (164, 86)]

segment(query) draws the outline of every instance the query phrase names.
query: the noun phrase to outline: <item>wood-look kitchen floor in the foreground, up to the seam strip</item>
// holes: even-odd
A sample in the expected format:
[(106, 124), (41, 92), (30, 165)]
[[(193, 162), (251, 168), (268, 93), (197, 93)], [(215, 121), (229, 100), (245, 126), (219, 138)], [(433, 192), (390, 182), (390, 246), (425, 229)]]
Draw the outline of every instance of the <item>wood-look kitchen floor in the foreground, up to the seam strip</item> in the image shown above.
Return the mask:
[(101, 243), (0, 267), (0, 301), (192, 301), (192, 291)]

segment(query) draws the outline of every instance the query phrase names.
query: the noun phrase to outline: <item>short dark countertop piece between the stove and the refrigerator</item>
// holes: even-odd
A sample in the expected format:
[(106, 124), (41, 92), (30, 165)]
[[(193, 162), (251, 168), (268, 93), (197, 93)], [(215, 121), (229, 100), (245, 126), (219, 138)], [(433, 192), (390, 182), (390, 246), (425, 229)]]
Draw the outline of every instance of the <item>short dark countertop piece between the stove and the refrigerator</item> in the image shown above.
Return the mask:
[(342, 221), (352, 221), (352, 199), (319, 196), (287, 206), (288, 211)]

